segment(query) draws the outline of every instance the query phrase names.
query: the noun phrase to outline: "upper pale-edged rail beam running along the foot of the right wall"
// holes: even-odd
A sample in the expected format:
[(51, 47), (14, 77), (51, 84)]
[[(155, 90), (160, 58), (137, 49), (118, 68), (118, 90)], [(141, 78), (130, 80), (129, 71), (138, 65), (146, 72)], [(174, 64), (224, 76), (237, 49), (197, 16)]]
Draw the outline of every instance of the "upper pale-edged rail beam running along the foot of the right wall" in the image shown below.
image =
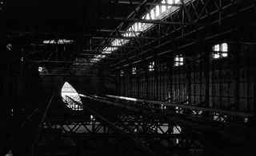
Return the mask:
[(246, 123), (248, 123), (249, 119), (253, 117), (253, 114), (242, 111), (227, 111), (213, 107), (201, 107), (197, 105), (185, 104), (187, 103), (188, 100), (185, 100), (182, 103), (174, 103), (112, 95), (92, 97), (98, 99), (110, 99), (117, 102), (123, 102), (128, 104), (134, 103), (137, 106), (151, 107), (155, 109), (160, 109), (162, 111), (170, 110), (174, 111), (174, 113), (176, 114), (193, 115), (196, 117), (206, 117), (207, 114), (207, 116), (209, 116), (208, 119), (213, 120), (215, 122), (237, 123), (242, 126), (246, 126)]

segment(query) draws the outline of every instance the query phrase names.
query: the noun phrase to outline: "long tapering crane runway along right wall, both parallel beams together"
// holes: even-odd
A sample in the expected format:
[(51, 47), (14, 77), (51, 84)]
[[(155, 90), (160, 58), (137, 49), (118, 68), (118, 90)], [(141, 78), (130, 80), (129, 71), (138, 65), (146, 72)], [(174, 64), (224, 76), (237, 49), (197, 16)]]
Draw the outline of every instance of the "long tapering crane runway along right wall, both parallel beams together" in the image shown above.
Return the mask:
[(191, 106), (182, 103), (164, 103), (154, 100), (123, 96), (85, 96), (101, 103), (122, 107), (154, 118), (166, 119), (205, 133), (218, 135), (238, 144), (247, 144), (250, 113), (219, 110), (210, 107)]

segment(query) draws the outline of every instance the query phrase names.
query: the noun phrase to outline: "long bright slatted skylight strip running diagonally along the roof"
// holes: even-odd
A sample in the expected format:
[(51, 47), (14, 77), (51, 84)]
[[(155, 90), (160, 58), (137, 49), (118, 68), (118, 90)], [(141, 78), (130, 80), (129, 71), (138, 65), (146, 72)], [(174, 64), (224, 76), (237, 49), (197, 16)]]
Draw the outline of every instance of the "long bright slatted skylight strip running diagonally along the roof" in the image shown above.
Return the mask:
[[(180, 4), (180, 0), (162, 0), (162, 4)], [(142, 16), (142, 19), (146, 20), (162, 20), (167, 15), (171, 14), (174, 10), (178, 9), (178, 6), (155, 6), (152, 8), (148, 13), (146, 13), (144, 16)], [(146, 29), (150, 29), (150, 27), (154, 25), (151, 23), (141, 23), (141, 22), (135, 22), (134, 25), (131, 25), (128, 29), (126, 29), (126, 33), (122, 33), (122, 37), (135, 37), (138, 36), (141, 32), (145, 31)], [(102, 53), (104, 54), (110, 54), (113, 53), (118, 49), (118, 46), (126, 45), (130, 40), (129, 39), (114, 39), (111, 42), (112, 47), (106, 47), (102, 50)], [(94, 56), (97, 58), (96, 56)], [(99, 57), (98, 57), (99, 58)], [(93, 59), (90, 60), (92, 63), (96, 63), (100, 61), (98, 59), (97, 61)]]

